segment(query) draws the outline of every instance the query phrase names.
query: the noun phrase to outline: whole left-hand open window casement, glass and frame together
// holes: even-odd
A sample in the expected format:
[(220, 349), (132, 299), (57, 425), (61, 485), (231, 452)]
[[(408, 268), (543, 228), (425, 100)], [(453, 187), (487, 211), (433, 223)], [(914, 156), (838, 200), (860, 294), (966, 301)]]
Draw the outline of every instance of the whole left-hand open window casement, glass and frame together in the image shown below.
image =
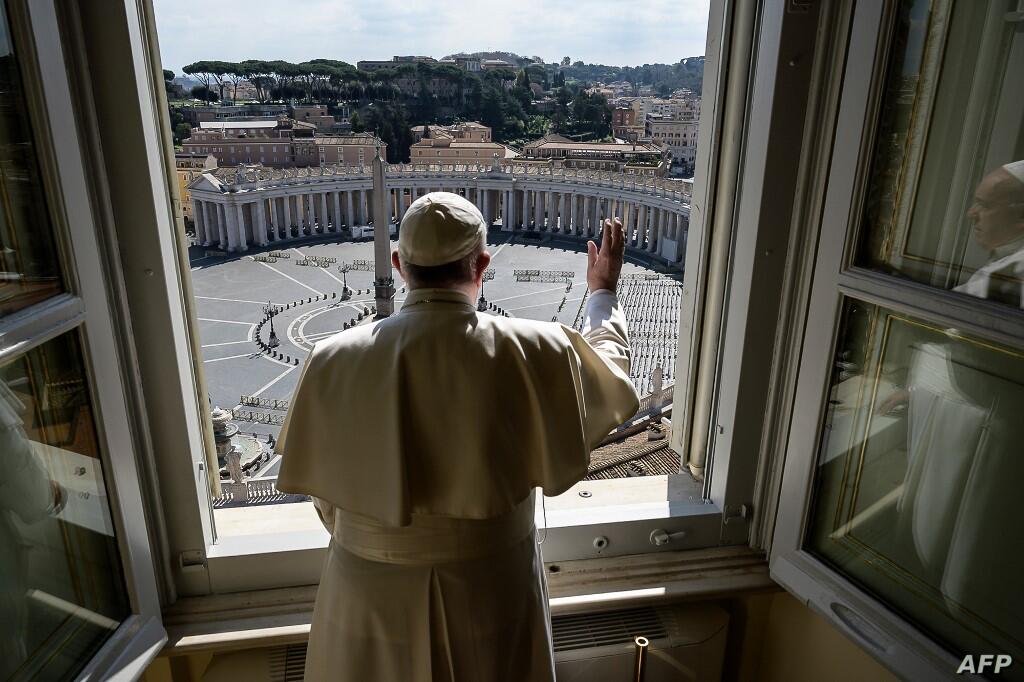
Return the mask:
[(166, 640), (116, 258), (52, 2), (0, 4), (0, 677), (141, 673)]

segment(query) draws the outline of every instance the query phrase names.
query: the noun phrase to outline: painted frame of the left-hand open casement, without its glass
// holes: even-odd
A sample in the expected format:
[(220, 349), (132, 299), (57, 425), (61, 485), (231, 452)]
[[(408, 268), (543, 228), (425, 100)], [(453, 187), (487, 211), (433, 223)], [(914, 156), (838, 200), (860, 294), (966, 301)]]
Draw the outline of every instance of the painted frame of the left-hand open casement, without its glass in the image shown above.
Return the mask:
[(66, 289), (0, 318), (0, 359), (23, 356), (65, 334), (77, 337), (131, 609), (77, 676), (135, 677), (167, 635), (138, 483), (139, 441), (127, 411), (130, 372), (117, 324), (119, 283), (105, 267), (111, 254), (96, 220), (99, 208), (86, 173), (87, 145), (77, 127), (55, 2), (9, 0), (7, 9)]

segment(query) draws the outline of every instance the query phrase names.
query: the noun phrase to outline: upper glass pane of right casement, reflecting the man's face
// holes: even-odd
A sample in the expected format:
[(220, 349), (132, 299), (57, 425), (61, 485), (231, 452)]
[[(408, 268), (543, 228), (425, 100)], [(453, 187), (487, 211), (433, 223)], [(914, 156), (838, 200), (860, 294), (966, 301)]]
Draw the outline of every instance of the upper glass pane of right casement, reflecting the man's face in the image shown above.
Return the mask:
[(904, 0), (858, 264), (1022, 305), (1024, 32), (1014, 0)]

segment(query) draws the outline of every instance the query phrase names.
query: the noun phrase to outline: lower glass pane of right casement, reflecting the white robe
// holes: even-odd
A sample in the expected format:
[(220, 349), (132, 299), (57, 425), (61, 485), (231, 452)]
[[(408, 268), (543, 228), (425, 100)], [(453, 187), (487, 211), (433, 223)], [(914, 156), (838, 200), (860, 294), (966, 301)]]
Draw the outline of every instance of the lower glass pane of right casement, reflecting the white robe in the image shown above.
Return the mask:
[(848, 301), (809, 549), (958, 653), (1020, 659), (1022, 413), (1019, 349)]

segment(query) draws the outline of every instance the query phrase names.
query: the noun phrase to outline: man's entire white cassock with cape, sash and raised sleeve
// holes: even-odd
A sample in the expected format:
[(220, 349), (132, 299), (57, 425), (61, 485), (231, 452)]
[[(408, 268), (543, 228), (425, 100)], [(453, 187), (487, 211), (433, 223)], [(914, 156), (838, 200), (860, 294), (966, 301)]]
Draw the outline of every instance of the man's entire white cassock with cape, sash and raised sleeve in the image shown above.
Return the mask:
[(554, 679), (534, 488), (557, 495), (639, 408), (626, 318), (583, 333), (477, 313), (464, 294), (316, 344), (282, 429), (278, 485), (332, 534), (306, 679)]

